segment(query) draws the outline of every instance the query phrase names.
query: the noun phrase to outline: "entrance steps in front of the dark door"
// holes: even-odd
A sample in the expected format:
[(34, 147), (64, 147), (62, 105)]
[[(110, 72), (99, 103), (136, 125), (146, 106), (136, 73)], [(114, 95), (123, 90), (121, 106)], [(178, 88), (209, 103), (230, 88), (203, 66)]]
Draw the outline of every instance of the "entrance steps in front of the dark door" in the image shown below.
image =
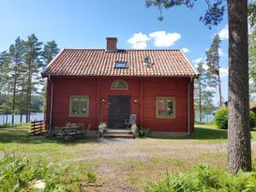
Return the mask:
[(106, 129), (103, 138), (127, 138), (134, 139), (133, 132), (130, 129)]

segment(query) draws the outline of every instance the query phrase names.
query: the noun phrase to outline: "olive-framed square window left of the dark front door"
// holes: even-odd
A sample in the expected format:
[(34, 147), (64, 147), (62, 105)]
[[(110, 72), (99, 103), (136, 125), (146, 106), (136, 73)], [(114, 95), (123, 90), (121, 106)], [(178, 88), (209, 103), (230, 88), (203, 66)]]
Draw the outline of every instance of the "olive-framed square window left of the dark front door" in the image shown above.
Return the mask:
[(89, 116), (89, 97), (88, 96), (70, 96), (69, 116), (70, 117), (88, 117)]

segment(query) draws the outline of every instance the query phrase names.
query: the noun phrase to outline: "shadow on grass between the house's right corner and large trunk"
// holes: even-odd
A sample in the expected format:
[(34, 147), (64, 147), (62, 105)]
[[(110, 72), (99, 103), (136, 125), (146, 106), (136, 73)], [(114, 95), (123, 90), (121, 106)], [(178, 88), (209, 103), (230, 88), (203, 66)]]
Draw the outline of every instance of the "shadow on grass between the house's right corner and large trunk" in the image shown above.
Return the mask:
[(191, 136), (192, 140), (221, 140), (228, 139), (227, 130), (217, 128), (195, 127)]

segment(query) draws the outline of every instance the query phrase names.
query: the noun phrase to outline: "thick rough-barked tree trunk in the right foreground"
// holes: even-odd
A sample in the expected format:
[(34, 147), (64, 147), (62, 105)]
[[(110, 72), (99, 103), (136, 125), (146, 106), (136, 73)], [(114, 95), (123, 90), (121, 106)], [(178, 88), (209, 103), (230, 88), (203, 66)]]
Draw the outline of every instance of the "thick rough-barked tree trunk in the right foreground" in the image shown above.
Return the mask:
[(228, 0), (229, 129), (228, 169), (251, 170), (248, 122), (248, 1)]

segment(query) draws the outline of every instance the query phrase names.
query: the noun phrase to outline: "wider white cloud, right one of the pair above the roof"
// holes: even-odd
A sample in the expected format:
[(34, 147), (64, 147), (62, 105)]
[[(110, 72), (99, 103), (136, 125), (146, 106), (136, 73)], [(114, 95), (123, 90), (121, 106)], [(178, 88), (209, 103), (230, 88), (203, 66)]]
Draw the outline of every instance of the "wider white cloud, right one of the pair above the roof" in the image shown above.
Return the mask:
[(165, 31), (156, 31), (149, 34), (149, 37), (154, 39), (156, 47), (171, 47), (174, 43), (181, 38), (178, 33), (168, 33)]

